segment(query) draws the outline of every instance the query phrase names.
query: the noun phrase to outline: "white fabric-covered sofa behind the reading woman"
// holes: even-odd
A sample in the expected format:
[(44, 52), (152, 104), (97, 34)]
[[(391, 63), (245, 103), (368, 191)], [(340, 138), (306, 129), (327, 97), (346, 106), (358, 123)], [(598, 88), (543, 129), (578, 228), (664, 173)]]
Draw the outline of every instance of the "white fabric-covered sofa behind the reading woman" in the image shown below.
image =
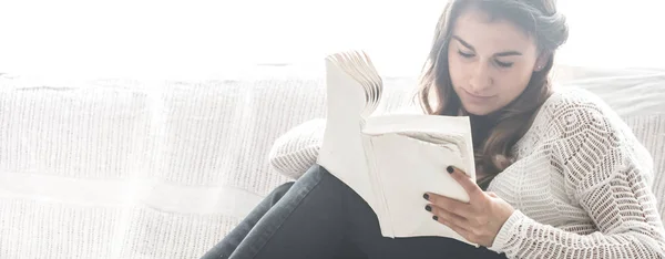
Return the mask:
[[(290, 180), (270, 167), (275, 141), (325, 116), (323, 73), (257, 71), (216, 81), (1, 74), (0, 258), (201, 257)], [(556, 75), (626, 118), (654, 155), (665, 203), (665, 72)], [(381, 112), (409, 104), (416, 77), (385, 83)]]

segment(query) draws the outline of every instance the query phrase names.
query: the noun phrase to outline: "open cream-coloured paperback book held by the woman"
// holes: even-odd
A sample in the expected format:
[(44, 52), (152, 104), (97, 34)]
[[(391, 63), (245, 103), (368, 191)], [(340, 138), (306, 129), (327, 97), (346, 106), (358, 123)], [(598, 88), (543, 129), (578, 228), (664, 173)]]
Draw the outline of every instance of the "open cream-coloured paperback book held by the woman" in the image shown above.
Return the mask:
[(317, 164), (352, 188), (376, 213), (383, 237), (439, 236), (477, 246), (432, 219), (426, 191), (469, 201), (447, 172), (475, 180), (466, 116), (372, 115), (382, 80), (361, 51), (326, 58), (327, 123)]

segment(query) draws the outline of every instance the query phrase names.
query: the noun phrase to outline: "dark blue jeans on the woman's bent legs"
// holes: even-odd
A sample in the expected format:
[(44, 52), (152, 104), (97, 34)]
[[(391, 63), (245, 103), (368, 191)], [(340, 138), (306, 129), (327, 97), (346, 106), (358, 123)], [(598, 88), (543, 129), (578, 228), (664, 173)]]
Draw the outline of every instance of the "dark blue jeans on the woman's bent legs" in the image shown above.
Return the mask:
[[(424, 209), (424, 208), (423, 208)], [(385, 238), (360, 196), (323, 167), (275, 189), (203, 259), (505, 258), (440, 237)]]

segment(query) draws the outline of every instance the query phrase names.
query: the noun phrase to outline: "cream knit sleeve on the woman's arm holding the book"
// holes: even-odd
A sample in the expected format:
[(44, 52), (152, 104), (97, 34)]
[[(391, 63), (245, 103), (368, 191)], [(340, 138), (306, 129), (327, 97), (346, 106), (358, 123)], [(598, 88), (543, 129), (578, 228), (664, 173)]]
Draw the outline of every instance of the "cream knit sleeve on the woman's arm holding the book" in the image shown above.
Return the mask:
[(552, 114), (551, 165), (597, 231), (569, 232), (515, 210), (490, 249), (508, 258), (665, 258), (663, 224), (647, 183), (652, 165), (618, 116), (589, 102), (567, 102)]

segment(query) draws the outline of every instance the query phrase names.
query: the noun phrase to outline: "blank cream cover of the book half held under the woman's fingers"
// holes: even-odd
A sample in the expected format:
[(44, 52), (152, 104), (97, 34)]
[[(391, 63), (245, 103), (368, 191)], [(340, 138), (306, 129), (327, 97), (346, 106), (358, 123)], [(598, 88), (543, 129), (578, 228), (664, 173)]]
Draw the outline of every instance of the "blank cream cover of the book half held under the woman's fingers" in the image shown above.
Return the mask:
[(446, 172), (452, 165), (461, 169), (463, 163), (454, 144), (433, 144), (400, 134), (371, 137), (377, 176), (383, 189), (392, 235), (395, 237), (439, 236), (466, 242), (444, 225), (431, 219), (424, 210), (426, 191), (468, 201), (469, 195)]

